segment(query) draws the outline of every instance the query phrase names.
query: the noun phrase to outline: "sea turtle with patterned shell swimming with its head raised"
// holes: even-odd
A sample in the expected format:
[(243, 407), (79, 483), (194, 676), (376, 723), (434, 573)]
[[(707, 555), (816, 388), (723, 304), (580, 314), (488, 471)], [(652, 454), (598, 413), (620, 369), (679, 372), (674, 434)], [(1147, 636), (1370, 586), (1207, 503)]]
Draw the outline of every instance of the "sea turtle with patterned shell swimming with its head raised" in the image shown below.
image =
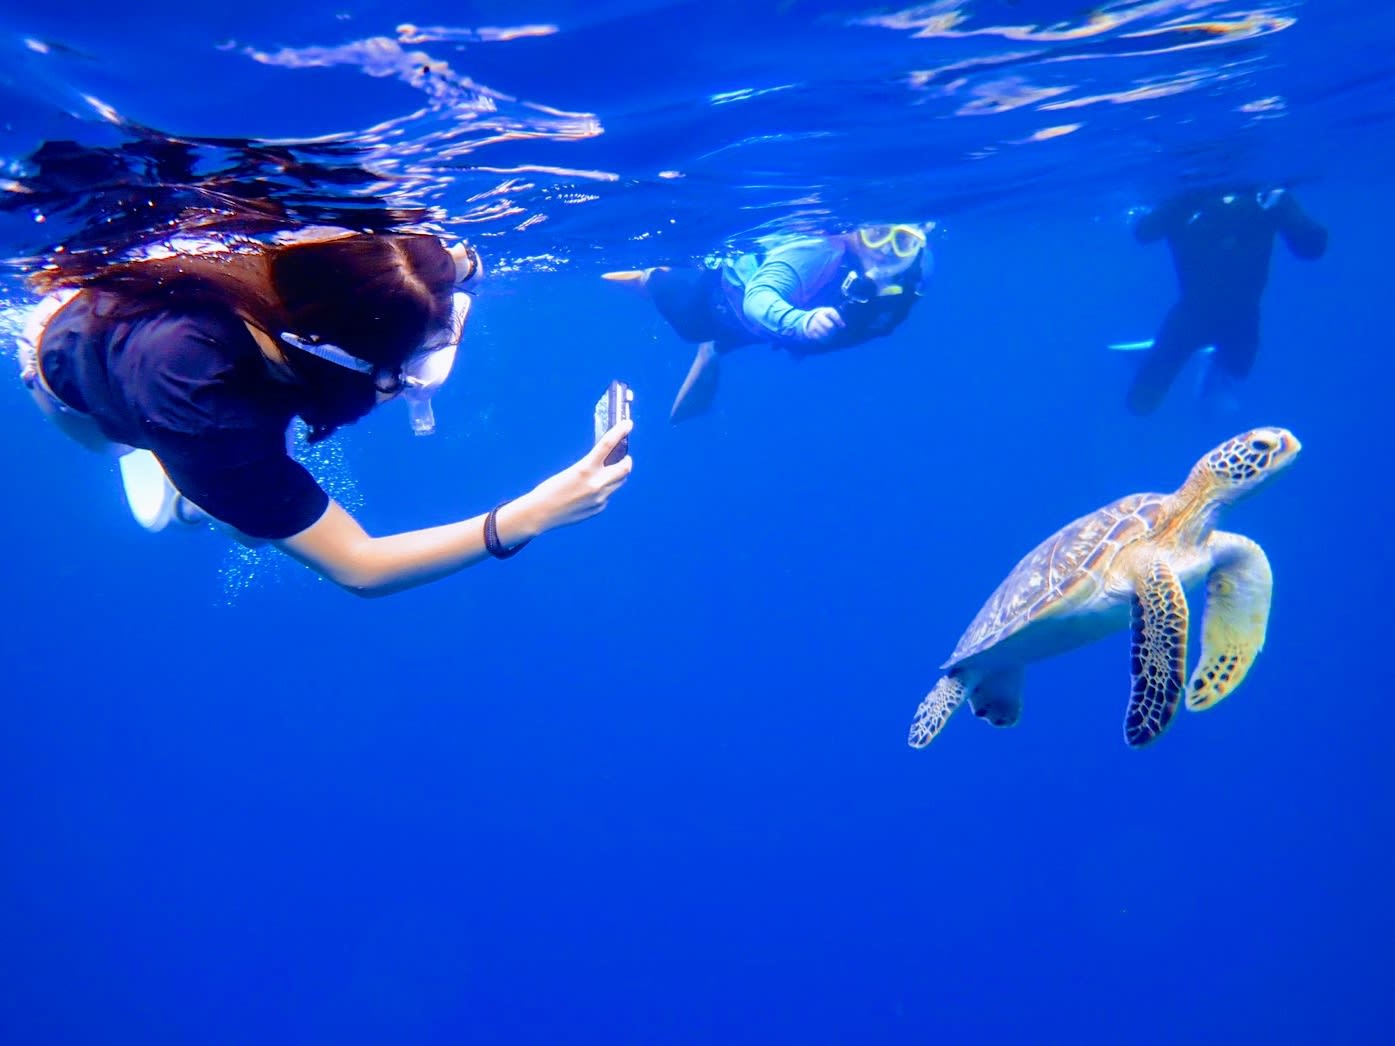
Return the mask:
[(1187, 707), (1235, 690), (1264, 646), (1274, 575), (1264, 549), (1215, 530), (1226, 505), (1286, 469), (1300, 449), (1283, 428), (1256, 428), (1205, 455), (1176, 494), (1133, 494), (1052, 534), (1007, 576), (960, 639), (921, 702), (910, 743), (925, 748), (967, 697), (974, 713), (1010, 727), (1031, 661), (1133, 622), (1133, 692), (1124, 741), (1158, 738), (1177, 710), (1187, 664), (1187, 597), (1205, 579), (1201, 660)]

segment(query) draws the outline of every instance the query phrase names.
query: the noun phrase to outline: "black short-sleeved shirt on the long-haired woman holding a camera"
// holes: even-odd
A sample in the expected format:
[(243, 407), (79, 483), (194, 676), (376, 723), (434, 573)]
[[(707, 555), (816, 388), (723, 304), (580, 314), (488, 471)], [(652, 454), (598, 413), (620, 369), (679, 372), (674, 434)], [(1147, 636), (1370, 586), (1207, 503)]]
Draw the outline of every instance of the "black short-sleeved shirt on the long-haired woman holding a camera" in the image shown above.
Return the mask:
[(151, 450), (186, 498), (248, 537), (315, 523), (329, 495), (286, 449), (294, 386), (276, 381), (233, 314), (99, 315), (85, 290), (47, 324), (39, 365), (54, 395), (107, 439)]

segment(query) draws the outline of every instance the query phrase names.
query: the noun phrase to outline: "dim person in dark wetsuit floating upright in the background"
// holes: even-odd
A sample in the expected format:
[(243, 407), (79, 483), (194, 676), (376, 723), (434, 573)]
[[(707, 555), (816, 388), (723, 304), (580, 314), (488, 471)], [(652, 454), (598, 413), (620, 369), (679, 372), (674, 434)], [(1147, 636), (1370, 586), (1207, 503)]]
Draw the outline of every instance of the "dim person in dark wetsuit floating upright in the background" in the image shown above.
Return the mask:
[(1282, 188), (1191, 190), (1134, 226), (1140, 243), (1166, 238), (1179, 298), (1168, 311), (1129, 389), (1129, 409), (1148, 414), (1193, 353), (1215, 346), (1202, 392), (1209, 407), (1233, 396), (1260, 347), (1260, 297), (1269, 279), (1274, 236), (1299, 258), (1320, 258), (1327, 230)]

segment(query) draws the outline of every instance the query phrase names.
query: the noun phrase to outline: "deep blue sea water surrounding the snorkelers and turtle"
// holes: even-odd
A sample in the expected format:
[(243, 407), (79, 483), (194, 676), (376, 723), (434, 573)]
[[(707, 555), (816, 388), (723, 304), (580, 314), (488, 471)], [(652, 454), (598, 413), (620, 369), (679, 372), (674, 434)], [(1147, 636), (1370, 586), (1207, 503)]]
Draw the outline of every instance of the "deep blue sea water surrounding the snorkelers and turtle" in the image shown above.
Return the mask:
[[(365, 526), (571, 463), (611, 377), (636, 470), (508, 563), (360, 602), (140, 531), (113, 463), (10, 386), (0, 1039), (1388, 1040), (1378, 6), (940, 3), (911, 21), (958, 28), (919, 38), (850, 3), (109, 11), (0, 14), (8, 303), (25, 259), (152, 229), (141, 194), (412, 211), (495, 273), (442, 431), (388, 407), (338, 439)], [(407, 21), (474, 31), (399, 45), (444, 93), (247, 52)], [(522, 25), (555, 31), (478, 32)], [(508, 99), (480, 116), (462, 78)], [(177, 185), (130, 162), (174, 138)], [(45, 141), (116, 166), (17, 206)], [(1235, 418), (1184, 377), (1138, 420), (1103, 344), (1151, 335), (1173, 278), (1127, 212), (1197, 167), (1292, 181), (1331, 248), (1275, 251)], [(939, 222), (937, 271), (894, 338), (739, 353), (714, 416), (667, 424), (691, 350), (601, 271), (898, 218)], [(1253, 424), (1304, 452), (1226, 522), (1276, 577), (1233, 697), (1129, 750), (1120, 635), (1032, 668), (1014, 729), (961, 711), (905, 746), (1020, 555)]]

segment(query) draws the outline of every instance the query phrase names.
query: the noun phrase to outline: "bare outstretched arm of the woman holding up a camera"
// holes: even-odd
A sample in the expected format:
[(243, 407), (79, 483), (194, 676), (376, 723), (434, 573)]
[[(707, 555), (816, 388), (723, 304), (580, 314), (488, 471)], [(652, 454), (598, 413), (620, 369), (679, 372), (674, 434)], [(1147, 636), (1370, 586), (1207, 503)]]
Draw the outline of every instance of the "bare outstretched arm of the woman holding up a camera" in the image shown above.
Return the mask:
[[(629, 477), (629, 456), (605, 456), (633, 428), (622, 421), (576, 464), (544, 480), (495, 513), (499, 543), (512, 548), (548, 530), (590, 519)], [(446, 577), (487, 559), (485, 515), (439, 527), (371, 537), (340, 505), (276, 547), (356, 596), (391, 596)]]

